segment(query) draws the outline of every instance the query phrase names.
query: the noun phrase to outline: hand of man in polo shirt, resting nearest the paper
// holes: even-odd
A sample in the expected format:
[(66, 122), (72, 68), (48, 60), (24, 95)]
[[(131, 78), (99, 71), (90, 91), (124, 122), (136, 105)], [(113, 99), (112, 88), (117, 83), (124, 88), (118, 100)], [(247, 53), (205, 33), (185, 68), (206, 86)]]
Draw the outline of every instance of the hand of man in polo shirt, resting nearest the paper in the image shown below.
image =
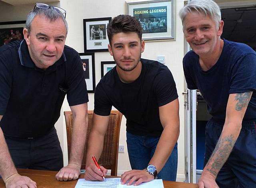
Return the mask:
[(55, 175), (58, 181), (76, 180), (80, 175), (80, 166), (70, 163), (68, 166), (64, 166)]

